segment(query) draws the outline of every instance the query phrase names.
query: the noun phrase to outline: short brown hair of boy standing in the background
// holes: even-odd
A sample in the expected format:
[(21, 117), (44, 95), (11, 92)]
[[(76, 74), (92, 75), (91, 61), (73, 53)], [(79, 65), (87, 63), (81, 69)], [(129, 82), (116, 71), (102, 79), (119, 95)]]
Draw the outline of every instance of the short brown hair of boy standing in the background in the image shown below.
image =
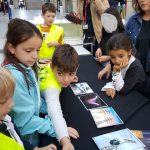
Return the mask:
[(53, 3), (45, 3), (42, 6), (42, 14), (44, 15), (47, 11), (53, 12), (56, 14), (56, 7)]

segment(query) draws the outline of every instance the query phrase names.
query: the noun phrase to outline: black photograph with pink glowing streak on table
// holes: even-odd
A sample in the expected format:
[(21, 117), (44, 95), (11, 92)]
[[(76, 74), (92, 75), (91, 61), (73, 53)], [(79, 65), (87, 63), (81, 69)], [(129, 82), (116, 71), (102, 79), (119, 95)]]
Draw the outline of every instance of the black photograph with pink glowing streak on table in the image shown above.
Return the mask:
[(108, 106), (96, 93), (80, 95), (78, 98), (87, 110)]

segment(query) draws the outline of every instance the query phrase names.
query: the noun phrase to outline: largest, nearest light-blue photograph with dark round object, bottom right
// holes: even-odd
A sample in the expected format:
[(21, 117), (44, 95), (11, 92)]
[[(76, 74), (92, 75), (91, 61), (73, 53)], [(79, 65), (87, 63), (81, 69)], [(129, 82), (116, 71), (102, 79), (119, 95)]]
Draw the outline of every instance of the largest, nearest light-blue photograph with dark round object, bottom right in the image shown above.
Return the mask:
[(144, 150), (145, 145), (128, 129), (93, 137), (100, 150)]

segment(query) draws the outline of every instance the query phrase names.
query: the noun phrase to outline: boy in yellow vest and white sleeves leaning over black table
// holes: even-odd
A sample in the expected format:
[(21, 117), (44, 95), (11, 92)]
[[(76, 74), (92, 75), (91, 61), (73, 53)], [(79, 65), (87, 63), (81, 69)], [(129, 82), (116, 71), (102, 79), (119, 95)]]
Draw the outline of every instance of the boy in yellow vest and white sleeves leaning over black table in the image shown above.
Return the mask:
[[(50, 116), (58, 140), (63, 148), (73, 150), (73, 145), (69, 142), (69, 135), (78, 138), (78, 132), (73, 128), (68, 128), (63, 118), (59, 95), (62, 87), (68, 87), (71, 82), (77, 81), (77, 68), (79, 66), (79, 56), (75, 49), (68, 45), (60, 45), (56, 48), (52, 61), (49, 65), (40, 67), (40, 89), (45, 96), (47, 111)], [(69, 144), (63, 144), (68, 143)]]

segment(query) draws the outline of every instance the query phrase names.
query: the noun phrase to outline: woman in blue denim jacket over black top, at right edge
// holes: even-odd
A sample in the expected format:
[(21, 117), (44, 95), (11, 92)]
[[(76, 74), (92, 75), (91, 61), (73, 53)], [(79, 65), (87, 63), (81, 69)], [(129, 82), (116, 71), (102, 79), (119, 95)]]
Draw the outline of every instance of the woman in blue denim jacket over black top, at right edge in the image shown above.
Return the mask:
[(150, 1), (133, 0), (136, 13), (125, 26), (135, 48), (135, 56), (140, 60), (145, 73), (150, 77)]

